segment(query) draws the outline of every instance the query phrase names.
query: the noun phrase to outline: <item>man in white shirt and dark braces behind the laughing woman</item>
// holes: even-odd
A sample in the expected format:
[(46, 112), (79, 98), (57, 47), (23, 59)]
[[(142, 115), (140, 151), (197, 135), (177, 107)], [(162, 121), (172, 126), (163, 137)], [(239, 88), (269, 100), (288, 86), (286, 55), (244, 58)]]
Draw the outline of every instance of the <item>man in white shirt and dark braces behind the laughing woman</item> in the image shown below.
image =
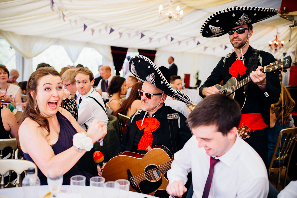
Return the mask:
[(92, 88), (93, 73), (87, 68), (75, 72), (75, 83), (80, 93), (78, 102), (78, 124), (86, 130), (93, 120), (99, 120), (107, 128), (108, 117), (102, 97)]

